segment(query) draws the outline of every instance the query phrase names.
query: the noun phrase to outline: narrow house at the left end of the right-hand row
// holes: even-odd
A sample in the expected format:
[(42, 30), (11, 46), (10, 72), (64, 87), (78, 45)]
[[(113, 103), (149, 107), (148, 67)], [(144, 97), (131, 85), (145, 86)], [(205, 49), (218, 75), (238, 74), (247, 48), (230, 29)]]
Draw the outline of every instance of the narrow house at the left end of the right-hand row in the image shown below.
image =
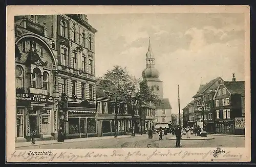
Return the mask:
[(183, 108), (183, 126), (187, 127), (193, 127), (195, 128), (195, 112), (194, 112), (194, 100), (189, 102), (184, 108)]

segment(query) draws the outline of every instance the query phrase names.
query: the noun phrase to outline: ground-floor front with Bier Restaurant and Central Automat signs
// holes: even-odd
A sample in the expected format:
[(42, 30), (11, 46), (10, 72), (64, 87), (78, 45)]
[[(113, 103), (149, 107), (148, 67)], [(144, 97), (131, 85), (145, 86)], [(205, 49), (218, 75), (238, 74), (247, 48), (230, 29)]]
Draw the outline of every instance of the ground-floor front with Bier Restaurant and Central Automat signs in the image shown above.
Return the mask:
[(52, 140), (57, 137), (57, 106), (48, 94), (16, 94), (16, 141), (35, 138)]

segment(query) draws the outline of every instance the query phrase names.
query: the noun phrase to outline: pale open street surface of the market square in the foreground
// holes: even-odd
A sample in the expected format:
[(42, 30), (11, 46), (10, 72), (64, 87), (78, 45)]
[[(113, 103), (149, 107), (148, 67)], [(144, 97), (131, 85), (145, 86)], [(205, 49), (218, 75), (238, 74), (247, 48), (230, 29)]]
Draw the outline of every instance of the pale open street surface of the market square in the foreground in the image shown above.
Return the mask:
[[(139, 134), (137, 134), (139, 135)], [(153, 138), (147, 138), (146, 135), (126, 138), (108, 138), (93, 141), (80, 141), (72, 143), (54, 143), (38, 146), (18, 147), (16, 150), (23, 149), (92, 149), (92, 148), (175, 148), (175, 140), (166, 140), (172, 137), (172, 134), (163, 136), (163, 140), (158, 140), (158, 134), (154, 134)], [(185, 136), (183, 136), (185, 137)], [(208, 135), (214, 137), (212, 140), (182, 140), (181, 147), (197, 148), (197, 147), (245, 147), (245, 137), (240, 136), (219, 136)], [(68, 141), (68, 140), (66, 140)]]

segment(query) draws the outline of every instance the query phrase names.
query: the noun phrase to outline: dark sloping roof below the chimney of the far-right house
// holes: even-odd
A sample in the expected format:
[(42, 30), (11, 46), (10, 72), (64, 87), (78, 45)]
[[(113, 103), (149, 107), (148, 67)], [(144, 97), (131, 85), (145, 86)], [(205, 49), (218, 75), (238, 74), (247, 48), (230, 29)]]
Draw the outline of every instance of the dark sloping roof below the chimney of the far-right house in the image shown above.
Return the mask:
[(244, 94), (244, 81), (224, 81), (225, 87), (231, 94)]

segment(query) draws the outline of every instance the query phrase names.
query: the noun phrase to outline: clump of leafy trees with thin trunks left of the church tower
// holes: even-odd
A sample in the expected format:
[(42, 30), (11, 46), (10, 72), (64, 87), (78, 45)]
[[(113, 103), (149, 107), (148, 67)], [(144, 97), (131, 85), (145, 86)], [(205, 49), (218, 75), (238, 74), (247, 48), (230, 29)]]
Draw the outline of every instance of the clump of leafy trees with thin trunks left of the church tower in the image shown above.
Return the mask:
[[(99, 82), (99, 88), (109, 93), (110, 98), (115, 101), (115, 137), (117, 133), (117, 103), (124, 101), (132, 114), (132, 135), (135, 135), (134, 115), (139, 108), (142, 114), (142, 105), (152, 101), (158, 102), (158, 98), (148, 89), (145, 80), (136, 79), (129, 75), (126, 68), (114, 66), (111, 71), (106, 72)], [(141, 116), (142, 117), (142, 116)]]

